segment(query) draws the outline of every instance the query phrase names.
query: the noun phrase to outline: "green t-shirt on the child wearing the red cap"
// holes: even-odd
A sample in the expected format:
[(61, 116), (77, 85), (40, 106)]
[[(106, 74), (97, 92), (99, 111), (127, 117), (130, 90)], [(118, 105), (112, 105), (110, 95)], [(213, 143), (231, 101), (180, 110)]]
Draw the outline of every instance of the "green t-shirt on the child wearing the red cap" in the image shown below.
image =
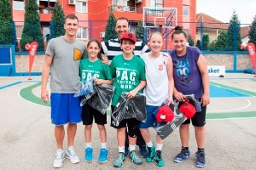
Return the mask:
[[(110, 68), (114, 78), (113, 86), (115, 87), (112, 105), (118, 103), (121, 94), (130, 92), (137, 88), (141, 81), (146, 80), (145, 63), (137, 55), (129, 60), (124, 59), (123, 54), (117, 55), (113, 58)], [(139, 93), (142, 93), (142, 90)]]

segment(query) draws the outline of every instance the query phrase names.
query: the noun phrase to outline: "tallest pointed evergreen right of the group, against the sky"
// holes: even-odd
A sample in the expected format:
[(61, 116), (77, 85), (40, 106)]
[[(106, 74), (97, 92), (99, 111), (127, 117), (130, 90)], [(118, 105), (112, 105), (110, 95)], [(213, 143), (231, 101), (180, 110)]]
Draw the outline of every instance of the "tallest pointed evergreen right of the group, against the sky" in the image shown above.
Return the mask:
[(232, 17), (230, 19), (230, 25), (227, 33), (226, 50), (237, 50), (240, 49), (241, 44), (241, 33), (240, 33), (240, 21), (236, 10), (233, 10)]

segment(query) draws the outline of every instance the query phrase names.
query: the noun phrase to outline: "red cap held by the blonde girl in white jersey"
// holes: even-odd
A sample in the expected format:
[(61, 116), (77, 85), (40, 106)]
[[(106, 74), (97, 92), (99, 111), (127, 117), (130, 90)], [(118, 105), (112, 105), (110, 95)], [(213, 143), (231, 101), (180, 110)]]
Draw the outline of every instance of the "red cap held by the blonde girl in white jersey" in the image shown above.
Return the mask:
[(157, 122), (172, 122), (174, 118), (174, 112), (168, 105), (160, 106), (159, 110), (155, 115)]

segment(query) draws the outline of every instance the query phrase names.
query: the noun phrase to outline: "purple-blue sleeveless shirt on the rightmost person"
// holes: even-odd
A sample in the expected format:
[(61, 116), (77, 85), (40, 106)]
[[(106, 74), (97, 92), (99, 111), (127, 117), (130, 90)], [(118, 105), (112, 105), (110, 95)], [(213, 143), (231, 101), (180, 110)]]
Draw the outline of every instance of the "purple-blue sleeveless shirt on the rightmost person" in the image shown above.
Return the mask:
[(203, 94), (201, 72), (196, 64), (200, 54), (201, 51), (194, 47), (187, 47), (183, 56), (177, 56), (175, 50), (170, 52), (175, 88), (183, 94), (195, 94), (195, 99), (200, 99)]

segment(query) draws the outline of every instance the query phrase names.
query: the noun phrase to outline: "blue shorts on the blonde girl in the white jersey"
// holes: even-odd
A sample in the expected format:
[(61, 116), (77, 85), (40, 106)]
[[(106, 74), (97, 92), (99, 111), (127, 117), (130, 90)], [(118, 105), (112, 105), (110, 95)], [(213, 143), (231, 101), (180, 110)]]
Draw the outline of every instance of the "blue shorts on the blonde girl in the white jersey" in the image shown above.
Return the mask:
[(142, 122), (140, 128), (148, 128), (148, 127), (153, 127), (154, 122), (156, 122), (155, 116), (154, 116), (154, 111), (157, 110), (159, 106), (154, 106), (154, 105), (146, 105), (146, 110), (147, 110), (147, 120), (146, 122)]

